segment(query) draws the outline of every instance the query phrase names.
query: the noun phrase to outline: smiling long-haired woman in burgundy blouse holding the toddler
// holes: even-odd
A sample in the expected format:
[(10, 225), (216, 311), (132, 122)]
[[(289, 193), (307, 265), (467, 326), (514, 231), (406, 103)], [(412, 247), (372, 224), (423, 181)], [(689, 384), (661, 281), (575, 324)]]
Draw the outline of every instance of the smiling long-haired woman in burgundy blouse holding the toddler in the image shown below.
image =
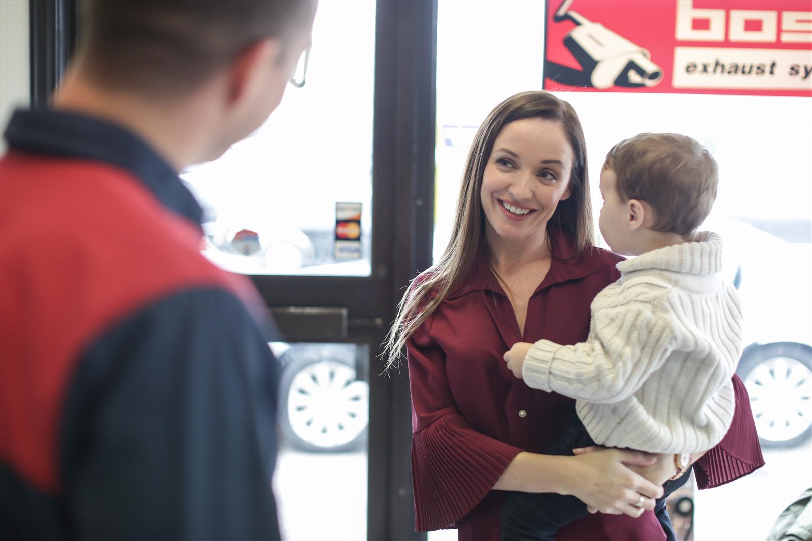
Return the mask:
[[(661, 526), (652, 512), (661, 488), (627, 466), (667, 479), (673, 457), (540, 454), (564, 431), (574, 401), (530, 389), (502, 359), (516, 341), (585, 339), (590, 302), (619, 276), (622, 260), (594, 247), (593, 230), (572, 106), (548, 92), (503, 101), (469, 151), (451, 243), (413, 281), (388, 343), (390, 364), (407, 346), (417, 530), (456, 527), (459, 539), (499, 539), (504, 491), (558, 492), (601, 512), (572, 522), (559, 539), (666, 539), (667, 518)], [(733, 426), (697, 462), (701, 487), (763, 464), (749, 400), (741, 381), (733, 383)]]

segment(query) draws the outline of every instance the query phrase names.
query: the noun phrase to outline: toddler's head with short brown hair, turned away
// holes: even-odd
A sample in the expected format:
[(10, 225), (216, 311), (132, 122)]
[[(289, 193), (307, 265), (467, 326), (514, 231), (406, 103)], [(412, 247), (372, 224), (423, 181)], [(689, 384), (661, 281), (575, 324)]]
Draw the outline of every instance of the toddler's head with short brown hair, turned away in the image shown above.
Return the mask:
[(622, 140), (601, 171), (601, 234), (624, 255), (683, 242), (711, 213), (718, 183), (711, 152), (687, 135)]

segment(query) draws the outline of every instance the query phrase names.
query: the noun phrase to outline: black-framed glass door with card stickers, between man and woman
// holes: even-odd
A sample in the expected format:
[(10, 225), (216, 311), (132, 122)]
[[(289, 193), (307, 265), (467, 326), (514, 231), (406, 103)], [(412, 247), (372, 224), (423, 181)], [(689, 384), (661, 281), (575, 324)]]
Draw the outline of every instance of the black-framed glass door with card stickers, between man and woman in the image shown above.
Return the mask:
[(203, 253), (252, 276), (274, 316), (284, 539), (419, 537), (408, 381), (380, 376), (378, 355), (430, 261), (433, 24), (434, 2), (320, 2), (279, 108), (181, 175), (205, 210)]

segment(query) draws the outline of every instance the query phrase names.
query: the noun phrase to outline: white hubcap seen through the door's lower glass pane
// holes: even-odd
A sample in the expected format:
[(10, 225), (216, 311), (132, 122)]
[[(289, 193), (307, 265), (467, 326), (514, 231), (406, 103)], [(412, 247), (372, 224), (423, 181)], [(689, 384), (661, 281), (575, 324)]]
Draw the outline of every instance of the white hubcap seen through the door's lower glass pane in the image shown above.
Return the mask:
[(348, 444), (369, 423), (369, 384), (355, 368), (335, 361), (309, 364), (291, 382), (287, 416), (293, 432), (309, 444), (330, 449)]

